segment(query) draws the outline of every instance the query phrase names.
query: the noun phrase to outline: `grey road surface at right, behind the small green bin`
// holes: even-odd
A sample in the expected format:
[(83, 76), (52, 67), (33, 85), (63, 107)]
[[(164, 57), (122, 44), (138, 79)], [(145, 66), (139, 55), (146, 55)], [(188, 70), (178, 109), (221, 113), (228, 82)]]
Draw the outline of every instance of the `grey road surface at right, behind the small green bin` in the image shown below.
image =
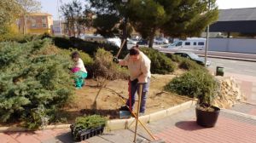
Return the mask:
[(212, 60), (212, 66), (209, 66), (211, 71), (216, 71), (216, 66), (222, 66), (225, 72), (256, 77), (256, 62), (216, 58), (208, 58), (208, 60)]

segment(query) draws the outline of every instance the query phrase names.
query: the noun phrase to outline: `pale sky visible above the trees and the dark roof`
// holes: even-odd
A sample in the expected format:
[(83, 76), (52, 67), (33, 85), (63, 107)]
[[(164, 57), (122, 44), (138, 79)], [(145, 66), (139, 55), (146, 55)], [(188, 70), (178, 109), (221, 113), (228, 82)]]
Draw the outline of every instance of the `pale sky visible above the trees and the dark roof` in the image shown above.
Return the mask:
[[(52, 14), (54, 20), (58, 20), (57, 0), (38, 0), (42, 3), (42, 12)], [(59, 0), (62, 3), (69, 3), (72, 0)], [(84, 0), (80, 0), (84, 2)], [(219, 9), (253, 8), (256, 7), (255, 0), (217, 0)], [(61, 5), (61, 3), (59, 3)]]

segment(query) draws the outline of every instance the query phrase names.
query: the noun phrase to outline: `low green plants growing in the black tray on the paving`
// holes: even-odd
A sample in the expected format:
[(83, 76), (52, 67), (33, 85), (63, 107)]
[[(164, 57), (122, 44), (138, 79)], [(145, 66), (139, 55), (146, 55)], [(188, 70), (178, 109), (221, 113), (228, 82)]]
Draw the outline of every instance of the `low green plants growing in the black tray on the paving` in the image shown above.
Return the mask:
[(81, 129), (95, 129), (97, 127), (104, 127), (107, 122), (105, 117), (99, 115), (91, 115), (87, 117), (77, 117), (73, 124), (74, 140), (79, 138), (79, 130)]

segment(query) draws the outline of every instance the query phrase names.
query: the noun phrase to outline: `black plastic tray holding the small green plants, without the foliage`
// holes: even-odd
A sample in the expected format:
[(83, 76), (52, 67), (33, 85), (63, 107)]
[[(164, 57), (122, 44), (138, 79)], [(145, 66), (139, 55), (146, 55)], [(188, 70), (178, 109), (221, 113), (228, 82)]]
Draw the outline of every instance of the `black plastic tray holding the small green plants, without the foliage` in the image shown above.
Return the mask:
[[(74, 136), (75, 134), (74, 134), (73, 128), (74, 128), (73, 124), (70, 125), (71, 133)], [(90, 137), (93, 137), (95, 135), (102, 134), (103, 130), (104, 130), (104, 127), (102, 126), (94, 129), (79, 129), (78, 135), (76, 136), (75, 140), (81, 141), (81, 140), (89, 139)]]

